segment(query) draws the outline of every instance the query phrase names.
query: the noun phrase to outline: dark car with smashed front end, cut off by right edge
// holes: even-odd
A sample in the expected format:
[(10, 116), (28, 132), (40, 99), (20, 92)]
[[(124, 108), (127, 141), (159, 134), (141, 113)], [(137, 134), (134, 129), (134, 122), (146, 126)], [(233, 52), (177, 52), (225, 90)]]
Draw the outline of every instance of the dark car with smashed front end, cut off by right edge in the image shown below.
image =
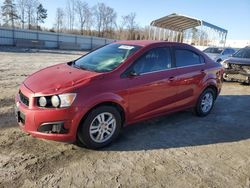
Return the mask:
[(250, 47), (240, 49), (232, 57), (222, 61), (226, 81), (250, 83)]

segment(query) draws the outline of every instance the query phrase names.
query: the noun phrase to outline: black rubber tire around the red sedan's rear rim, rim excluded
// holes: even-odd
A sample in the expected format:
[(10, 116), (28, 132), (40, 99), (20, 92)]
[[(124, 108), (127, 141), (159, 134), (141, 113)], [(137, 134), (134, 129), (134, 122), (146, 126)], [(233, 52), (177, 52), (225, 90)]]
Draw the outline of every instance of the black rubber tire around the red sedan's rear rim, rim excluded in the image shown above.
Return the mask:
[[(212, 105), (211, 107), (209, 108), (208, 111), (204, 111), (203, 108), (202, 108), (202, 101), (204, 99), (204, 97), (207, 95), (207, 94), (211, 94), (212, 95)], [(213, 109), (213, 106), (214, 106), (214, 102), (215, 102), (215, 99), (216, 99), (216, 92), (212, 89), (212, 88), (207, 88), (205, 89), (202, 94), (200, 95), (198, 101), (197, 101), (197, 104), (194, 108), (194, 112), (197, 116), (199, 117), (204, 117), (206, 115), (208, 115), (211, 110)]]

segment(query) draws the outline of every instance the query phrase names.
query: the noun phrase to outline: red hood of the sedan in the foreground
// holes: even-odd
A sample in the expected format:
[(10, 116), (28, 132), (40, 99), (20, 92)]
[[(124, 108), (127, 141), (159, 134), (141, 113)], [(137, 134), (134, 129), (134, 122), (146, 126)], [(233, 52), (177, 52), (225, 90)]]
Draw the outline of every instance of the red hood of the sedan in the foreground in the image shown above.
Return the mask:
[(54, 94), (89, 82), (100, 73), (74, 68), (67, 63), (54, 65), (30, 75), (24, 85), (35, 94)]

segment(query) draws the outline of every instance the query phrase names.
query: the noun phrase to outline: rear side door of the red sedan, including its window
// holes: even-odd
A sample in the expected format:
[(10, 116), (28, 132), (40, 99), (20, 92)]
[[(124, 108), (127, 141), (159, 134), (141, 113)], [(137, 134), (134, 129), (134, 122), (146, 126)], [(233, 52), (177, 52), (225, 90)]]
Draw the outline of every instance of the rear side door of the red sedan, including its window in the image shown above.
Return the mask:
[(178, 70), (175, 81), (178, 85), (176, 105), (180, 108), (192, 106), (200, 95), (202, 81), (206, 76), (205, 60), (197, 52), (185, 47), (175, 47), (173, 54)]

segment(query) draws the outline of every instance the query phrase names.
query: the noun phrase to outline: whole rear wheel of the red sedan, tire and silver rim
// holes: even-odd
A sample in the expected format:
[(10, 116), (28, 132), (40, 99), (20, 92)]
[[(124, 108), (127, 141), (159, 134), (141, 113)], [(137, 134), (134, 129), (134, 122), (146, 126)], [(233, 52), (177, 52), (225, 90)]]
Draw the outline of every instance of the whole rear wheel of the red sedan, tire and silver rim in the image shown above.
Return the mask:
[[(207, 99), (207, 100), (206, 100)], [(207, 88), (200, 95), (194, 112), (197, 116), (204, 117), (208, 115), (213, 109), (214, 102), (216, 99), (215, 91), (211, 88)]]

